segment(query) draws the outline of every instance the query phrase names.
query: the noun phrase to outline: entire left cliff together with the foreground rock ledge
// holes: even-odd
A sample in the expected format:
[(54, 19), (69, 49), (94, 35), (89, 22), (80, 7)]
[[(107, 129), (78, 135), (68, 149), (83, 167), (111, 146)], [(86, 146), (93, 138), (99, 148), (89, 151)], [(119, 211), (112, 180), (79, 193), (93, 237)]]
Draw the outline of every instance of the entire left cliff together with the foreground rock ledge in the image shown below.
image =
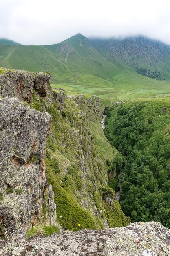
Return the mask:
[[(48, 74), (4, 70), (0, 81), (0, 234), (11, 232), (0, 239), (0, 255), (170, 255), (169, 229), (127, 226), (113, 200), (89, 128), (100, 124), (101, 101), (53, 91)], [(26, 239), (29, 227), (56, 225), (56, 217), (61, 234), (40, 230)], [(117, 228), (91, 230), (105, 227)]]

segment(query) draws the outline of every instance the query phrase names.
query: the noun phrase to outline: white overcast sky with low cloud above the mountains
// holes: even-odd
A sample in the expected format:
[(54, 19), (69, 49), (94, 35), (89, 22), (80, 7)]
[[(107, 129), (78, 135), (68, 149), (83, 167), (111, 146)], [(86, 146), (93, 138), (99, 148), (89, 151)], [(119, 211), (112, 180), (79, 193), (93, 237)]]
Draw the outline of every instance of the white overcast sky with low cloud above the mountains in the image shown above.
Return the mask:
[(170, 1), (0, 0), (0, 38), (24, 45), (144, 34), (170, 44)]

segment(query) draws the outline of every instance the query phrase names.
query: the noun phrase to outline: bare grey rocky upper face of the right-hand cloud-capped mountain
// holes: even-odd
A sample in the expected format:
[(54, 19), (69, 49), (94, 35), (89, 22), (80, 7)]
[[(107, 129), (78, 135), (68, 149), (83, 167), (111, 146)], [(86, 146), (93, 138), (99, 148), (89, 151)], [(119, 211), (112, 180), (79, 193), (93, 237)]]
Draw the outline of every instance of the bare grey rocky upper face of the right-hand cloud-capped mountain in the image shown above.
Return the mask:
[[(144, 36), (112, 38), (112, 39), (90, 39), (92, 45), (100, 52), (101, 49), (108, 51), (111, 56), (117, 56), (128, 65), (137, 67), (142, 57), (148, 65), (152, 62), (163, 60), (170, 53), (169, 45), (158, 40), (152, 40)], [(133, 60), (133, 62), (130, 62)]]

